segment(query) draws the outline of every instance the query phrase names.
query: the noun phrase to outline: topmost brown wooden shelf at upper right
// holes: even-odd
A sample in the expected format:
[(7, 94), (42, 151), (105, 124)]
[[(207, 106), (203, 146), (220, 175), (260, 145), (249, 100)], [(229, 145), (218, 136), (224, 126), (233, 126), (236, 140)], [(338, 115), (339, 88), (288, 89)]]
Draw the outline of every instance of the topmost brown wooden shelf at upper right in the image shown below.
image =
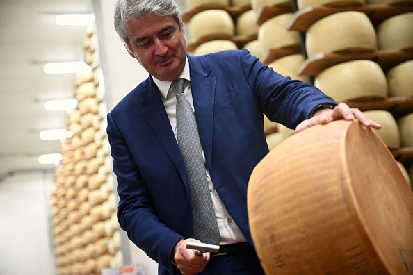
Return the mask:
[(307, 31), (307, 29), (318, 20), (332, 15), (337, 12), (358, 11), (365, 13), (371, 20), (374, 26), (377, 26), (385, 19), (400, 15), (406, 12), (413, 12), (412, 3), (406, 1), (405, 4), (398, 6), (388, 5), (354, 5), (354, 6), (316, 6), (307, 7), (295, 12), (291, 20), (289, 30), (291, 31)]

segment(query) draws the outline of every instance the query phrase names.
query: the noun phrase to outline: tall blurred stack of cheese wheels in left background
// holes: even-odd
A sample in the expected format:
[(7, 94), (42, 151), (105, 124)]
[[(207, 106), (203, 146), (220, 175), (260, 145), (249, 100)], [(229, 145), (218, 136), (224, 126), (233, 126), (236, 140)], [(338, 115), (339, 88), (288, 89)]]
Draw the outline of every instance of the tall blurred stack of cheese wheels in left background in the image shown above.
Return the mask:
[(122, 267), (104, 90), (92, 30), (85, 42), (85, 60), (92, 71), (76, 78), (74, 97), (79, 104), (67, 126), (73, 135), (63, 143), (52, 192), (58, 275), (100, 274), (106, 267)]

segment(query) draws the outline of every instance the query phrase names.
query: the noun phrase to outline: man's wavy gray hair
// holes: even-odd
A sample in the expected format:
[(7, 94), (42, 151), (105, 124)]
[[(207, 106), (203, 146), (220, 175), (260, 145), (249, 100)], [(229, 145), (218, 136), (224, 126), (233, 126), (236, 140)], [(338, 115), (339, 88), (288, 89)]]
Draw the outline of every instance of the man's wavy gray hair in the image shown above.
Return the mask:
[(156, 13), (172, 16), (182, 30), (182, 14), (174, 0), (118, 0), (115, 4), (113, 22), (115, 31), (129, 51), (133, 51), (129, 44), (129, 28), (127, 22), (132, 18), (145, 18)]

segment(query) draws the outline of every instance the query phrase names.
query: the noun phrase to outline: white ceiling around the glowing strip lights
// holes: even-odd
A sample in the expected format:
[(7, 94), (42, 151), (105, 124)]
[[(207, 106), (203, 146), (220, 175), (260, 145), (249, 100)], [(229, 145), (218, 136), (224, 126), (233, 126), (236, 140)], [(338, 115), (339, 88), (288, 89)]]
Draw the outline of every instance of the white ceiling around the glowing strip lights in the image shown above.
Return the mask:
[(67, 111), (44, 102), (68, 99), (74, 74), (45, 74), (44, 63), (81, 60), (86, 26), (58, 26), (58, 12), (90, 12), (90, 0), (0, 0), (0, 182), (18, 172), (53, 170), (38, 156), (60, 153), (42, 130), (67, 128)]

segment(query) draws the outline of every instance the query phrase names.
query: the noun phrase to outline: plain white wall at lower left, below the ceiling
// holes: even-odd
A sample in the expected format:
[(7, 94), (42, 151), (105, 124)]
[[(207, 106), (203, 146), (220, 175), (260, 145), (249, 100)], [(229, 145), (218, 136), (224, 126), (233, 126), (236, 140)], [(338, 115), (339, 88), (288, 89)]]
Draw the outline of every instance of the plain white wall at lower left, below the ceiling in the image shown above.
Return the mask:
[(56, 274), (49, 217), (53, 176), (17, 173), (0, 182), (0, 274)]

